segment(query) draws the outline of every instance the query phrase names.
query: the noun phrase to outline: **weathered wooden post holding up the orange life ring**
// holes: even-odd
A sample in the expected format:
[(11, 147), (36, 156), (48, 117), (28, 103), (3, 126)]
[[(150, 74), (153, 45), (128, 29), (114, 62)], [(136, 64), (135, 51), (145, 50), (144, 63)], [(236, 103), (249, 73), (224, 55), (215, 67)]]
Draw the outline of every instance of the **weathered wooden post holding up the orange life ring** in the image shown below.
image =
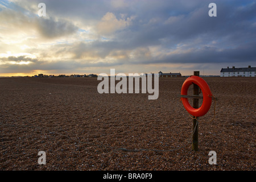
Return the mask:
[[(200, 72), (199, 71), (195, 71), (194, 72), (194, 76), (200, 76)], [(199, 86), (197, 86), (196, 84), (193, 84), (193, 95), (194, 96), (199, 96)], [(198, 98), (193, 98), (193, 107), (194, 108), (199, 108), (199, 99)], [(192, 136), (192, 150), (194, 151), (198, 151), (198, 117), (193, 116), (193, 130), (195, 130), (195, 132), (193, 133)]]

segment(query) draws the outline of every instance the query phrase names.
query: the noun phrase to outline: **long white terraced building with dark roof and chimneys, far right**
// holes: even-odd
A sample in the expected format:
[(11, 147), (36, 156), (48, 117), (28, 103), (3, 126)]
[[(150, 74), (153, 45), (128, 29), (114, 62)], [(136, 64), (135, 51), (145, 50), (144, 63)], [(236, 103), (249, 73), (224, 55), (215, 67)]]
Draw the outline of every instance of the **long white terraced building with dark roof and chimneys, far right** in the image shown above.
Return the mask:
[(251, 67), (250, 65), (247, 68), (221, 68), (220, 71), (221, 77), (256, 77), (256, 67)]

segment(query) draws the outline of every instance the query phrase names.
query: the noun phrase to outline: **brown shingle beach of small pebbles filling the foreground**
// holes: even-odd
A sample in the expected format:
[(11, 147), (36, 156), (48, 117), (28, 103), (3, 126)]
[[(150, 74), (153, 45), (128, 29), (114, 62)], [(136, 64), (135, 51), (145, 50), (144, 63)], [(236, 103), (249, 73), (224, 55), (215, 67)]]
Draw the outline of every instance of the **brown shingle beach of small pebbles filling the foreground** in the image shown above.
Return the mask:
[(216, 117), (213, 102), (195, 152), (184, 77), (159, 78), (157, 100), (99, 94), (97, 78), (0, 78), (0, 170), (255, 170), (256, 78), (204, 79)]

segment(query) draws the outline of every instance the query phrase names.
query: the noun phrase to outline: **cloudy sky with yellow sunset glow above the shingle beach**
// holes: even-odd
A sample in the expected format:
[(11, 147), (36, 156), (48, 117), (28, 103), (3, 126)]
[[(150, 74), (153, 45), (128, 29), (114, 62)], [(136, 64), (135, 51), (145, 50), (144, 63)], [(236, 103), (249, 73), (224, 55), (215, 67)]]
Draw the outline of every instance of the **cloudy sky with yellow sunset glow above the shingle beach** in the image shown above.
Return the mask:
[(0, 76), (220, 75), (255, 48), (252, 0), (0, 0)]

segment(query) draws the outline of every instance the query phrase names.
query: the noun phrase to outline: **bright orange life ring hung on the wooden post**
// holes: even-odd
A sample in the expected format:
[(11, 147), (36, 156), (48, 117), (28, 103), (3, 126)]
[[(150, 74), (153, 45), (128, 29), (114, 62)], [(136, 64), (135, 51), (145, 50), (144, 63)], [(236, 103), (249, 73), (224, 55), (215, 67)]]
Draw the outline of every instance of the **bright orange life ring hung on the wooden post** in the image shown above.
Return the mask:
[(187, 95), (188, 88), (192, 84), (196, 84), (200, 87), (203, 93), (203, 104), (198, 109), (195, 109), (189, 104), (188, 98), (181, 97), (181, 101), (189, 114), (200, 117), (205, 115), (210, 109), (210, 105), (212, 104), (212, 92), (210, 92), (209, 85), (204, 81), (203, 78), (199, 76), (190, 76), (184, 81), (182, 85), (181, 95)]

